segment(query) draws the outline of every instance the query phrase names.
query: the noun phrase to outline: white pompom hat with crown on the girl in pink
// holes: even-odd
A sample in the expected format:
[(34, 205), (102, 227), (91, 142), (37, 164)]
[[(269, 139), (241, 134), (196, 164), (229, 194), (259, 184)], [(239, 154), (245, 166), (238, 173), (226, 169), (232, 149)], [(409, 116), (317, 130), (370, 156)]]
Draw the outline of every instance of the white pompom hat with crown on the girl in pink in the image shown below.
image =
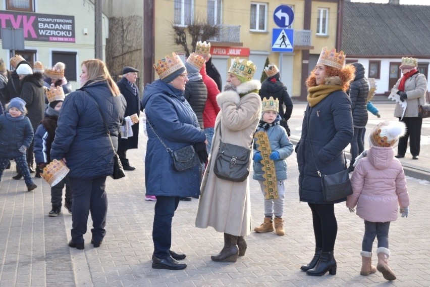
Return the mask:
[(403, 136), (405, 132), (406, 126), (403, 122), (380, 122), (370, 132), (369, 144), (375, 147), (393, 147), (399, 137)]

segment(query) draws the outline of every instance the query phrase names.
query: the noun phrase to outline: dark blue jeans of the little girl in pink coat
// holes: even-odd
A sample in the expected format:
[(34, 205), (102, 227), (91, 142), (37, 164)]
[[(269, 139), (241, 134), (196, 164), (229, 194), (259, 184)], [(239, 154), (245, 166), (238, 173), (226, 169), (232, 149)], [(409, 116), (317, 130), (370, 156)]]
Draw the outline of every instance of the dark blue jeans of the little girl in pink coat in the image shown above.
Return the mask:
[(372, 252), (372, 245), (375, 237), (378, 237), (378, 247), (388, 248), (388, 231), (390, 230), (390, 221), (388, 222), (370, 222), (364, 220), (364, 236), (361, 244), (361, 250)]

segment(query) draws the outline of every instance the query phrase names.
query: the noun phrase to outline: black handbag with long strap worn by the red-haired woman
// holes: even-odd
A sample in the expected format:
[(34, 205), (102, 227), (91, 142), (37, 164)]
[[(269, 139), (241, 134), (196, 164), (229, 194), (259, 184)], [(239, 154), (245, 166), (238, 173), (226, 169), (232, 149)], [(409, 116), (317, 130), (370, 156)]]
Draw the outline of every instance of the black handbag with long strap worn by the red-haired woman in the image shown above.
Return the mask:
[[(310, 114), (310, 110), (309, 110)], [(309, 127), (309, 115), (307, 118), (307, 126)], [(308, 128), (309, 129), (309, 128)], [(346, 168), (346, 157), (345, 152), (343, 152), (343, 156), (345, 159), (345, 169), (341, 170), (334, 174), (321, 174), (316, 165), (315, 156), (313, 155), (312, 145), (310, 143), (309, 132), (307, 135), (307, 139), (309, 140), (309, 147), (312, 153), (312, 159), (315, 164), (316, 172), (318, 176), (321, 178), (321, 187), (323, 188), (323, 198), (324, 201), (330, 202), (335, 201), (349, 195), (352, 195), (352, 185), (349, 179), (348, 169)]]

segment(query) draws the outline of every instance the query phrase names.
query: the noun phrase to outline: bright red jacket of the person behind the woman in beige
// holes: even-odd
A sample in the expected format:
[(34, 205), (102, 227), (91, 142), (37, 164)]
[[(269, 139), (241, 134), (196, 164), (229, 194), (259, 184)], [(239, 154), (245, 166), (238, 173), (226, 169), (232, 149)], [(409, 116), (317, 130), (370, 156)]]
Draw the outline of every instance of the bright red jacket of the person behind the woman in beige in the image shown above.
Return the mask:
[(220, 112), (220, 107), (217, 103), (217, 95), (220, 93), (217, 83), (206, 74), (206, 64), (200, 69), (203, 82), (207, 88), (207, 101), (203, 110), (203, 125), (204, 128), (214, 127), (215, 119)]

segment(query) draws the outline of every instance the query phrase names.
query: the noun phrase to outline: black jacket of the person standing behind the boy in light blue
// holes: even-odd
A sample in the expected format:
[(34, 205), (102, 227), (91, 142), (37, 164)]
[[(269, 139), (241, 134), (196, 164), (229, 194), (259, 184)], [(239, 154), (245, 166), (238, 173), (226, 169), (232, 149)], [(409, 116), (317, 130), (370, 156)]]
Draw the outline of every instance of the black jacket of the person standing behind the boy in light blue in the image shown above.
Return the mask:
[[(279, 73), (265, 79), (261, 83), (261, 88), (258, 93), (261, 100), (263, 100), (263, 98), (268, 99), (270, 97), (273, 97), (275, 100), (278, 99), (279, 115), (287, 121), (290, 119), (291, 113), (293, 112), (293, 102), (288, 94), (287, 87), (279, 80)], [(285, 111), (283, 104), (286, 107)]]

